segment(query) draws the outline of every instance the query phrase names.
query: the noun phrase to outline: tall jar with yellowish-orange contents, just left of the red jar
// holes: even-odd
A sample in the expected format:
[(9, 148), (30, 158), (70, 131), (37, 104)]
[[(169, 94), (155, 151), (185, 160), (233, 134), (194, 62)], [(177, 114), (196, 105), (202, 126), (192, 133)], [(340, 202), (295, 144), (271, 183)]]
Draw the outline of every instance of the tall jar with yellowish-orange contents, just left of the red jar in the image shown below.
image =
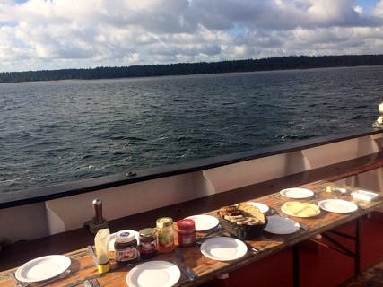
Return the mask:
[(174, 250), (173, 220), (170, 217), (157, 219), (157, 248), (159, 252)]

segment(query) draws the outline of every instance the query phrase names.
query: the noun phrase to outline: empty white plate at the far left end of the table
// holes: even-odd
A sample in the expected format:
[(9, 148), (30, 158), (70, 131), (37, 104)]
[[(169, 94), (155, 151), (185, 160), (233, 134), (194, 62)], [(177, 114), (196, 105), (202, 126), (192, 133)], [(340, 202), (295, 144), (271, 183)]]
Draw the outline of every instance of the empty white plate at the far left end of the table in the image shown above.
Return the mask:
[(24, 263), (16, 270), (16, 279), (25, 283), (48, 280), (62, 274), (71, 265), (71, 259), (62, 255), (48, 255)]

